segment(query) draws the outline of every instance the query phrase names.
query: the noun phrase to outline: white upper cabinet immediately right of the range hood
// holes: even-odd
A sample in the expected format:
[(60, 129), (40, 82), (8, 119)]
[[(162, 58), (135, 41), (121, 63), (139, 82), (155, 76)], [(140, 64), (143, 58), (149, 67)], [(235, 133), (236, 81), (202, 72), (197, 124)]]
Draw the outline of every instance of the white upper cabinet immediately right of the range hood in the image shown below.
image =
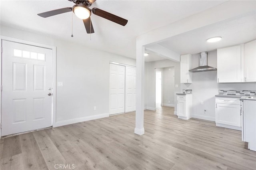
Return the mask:
[(217, 49), (218, 83), (241, 82), (241, 45)]

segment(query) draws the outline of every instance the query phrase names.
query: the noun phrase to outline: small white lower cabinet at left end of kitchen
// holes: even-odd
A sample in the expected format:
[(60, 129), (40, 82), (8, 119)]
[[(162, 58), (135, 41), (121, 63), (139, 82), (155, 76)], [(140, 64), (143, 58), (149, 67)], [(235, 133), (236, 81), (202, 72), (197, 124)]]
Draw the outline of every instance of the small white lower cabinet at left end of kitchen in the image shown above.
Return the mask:
[(177, 95), (177, 116), (179, 119), (191, 118), (192, 94)]

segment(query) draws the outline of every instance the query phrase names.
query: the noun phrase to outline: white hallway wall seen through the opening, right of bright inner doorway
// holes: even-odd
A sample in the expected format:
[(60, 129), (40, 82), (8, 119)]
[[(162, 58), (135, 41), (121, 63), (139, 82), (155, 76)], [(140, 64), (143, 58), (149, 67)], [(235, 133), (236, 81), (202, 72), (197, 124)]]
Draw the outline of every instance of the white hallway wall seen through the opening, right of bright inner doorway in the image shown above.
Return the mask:
[(174, 67), (163, 68), (162, 105), (174, 107)]

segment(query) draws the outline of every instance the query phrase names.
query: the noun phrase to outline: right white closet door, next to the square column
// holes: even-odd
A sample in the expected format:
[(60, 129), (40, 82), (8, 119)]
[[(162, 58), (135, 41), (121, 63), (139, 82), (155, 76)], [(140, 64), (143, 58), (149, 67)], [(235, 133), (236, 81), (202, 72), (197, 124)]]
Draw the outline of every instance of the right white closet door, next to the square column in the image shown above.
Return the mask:
[(136, 68), (126, 66), (125, 112), (136, 110)]

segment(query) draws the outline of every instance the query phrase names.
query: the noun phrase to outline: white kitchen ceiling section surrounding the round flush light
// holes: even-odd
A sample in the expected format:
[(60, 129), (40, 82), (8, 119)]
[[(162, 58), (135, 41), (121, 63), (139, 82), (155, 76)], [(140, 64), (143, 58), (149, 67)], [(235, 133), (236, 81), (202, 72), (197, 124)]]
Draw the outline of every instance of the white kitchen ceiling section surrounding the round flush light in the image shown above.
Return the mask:
[[(221, 36), (220, 42), (208, 43), (211, 37)], [(196, 54), (220, 47), (237, 45), (256, 39), (256, 12), (250, 12), (230, 20), (198, 28), (159, 43), (179, 54)]]

